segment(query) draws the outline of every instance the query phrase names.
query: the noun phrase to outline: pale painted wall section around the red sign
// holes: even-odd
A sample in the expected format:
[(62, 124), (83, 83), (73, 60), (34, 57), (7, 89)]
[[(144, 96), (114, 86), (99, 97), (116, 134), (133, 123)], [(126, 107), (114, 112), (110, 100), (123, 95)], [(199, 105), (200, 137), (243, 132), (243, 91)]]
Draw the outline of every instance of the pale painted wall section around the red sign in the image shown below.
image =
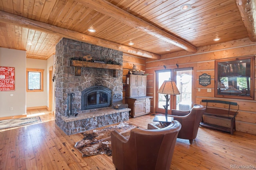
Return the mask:
[(15, 90), (0, 92), (0, 117), (26, 114), (26, 51), (0, 47), (0, 66), (15, 68)]

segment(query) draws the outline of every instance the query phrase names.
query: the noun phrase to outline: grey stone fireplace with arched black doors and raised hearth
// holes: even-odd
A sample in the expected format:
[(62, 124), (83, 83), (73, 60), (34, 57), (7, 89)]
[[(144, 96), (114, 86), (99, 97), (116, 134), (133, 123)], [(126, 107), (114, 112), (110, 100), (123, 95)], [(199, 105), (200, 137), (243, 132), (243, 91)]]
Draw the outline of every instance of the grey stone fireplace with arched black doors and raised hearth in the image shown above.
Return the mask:
[[(66, 38), (56, 45), (55, 121), (68, 135), (129, 119), (130, 109), (112, 108), (112, 96), (122, 95), (122, 70), (94, 68), (94, 63), (79, 68), (70, 66), (70, 60), (88, 55), (96, 61), (123, 62), (122, 52), (113, 49)], [(76, 117), (67, 117), (68, 93), (74, 93)]]

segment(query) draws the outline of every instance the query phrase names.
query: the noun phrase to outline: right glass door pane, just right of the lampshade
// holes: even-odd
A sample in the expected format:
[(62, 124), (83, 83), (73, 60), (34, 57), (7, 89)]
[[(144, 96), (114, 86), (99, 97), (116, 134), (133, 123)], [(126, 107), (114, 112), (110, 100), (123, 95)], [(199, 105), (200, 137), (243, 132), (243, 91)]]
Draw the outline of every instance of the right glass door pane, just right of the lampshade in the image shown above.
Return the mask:
[(190, 110), (192, 106), (192, 70), (176, 71), (177, 87), (180, 95), (176, 95), (176, 108)]

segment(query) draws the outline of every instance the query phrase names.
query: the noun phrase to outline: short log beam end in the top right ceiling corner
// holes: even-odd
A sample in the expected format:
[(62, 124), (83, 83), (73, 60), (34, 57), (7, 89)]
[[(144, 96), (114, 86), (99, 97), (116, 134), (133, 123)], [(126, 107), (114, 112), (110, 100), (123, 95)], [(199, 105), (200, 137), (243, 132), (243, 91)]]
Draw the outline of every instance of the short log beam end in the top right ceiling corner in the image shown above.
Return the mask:
[(236, 0), (242, 20), (252, 42), (256, 42), (256, 4), (254, 0)]

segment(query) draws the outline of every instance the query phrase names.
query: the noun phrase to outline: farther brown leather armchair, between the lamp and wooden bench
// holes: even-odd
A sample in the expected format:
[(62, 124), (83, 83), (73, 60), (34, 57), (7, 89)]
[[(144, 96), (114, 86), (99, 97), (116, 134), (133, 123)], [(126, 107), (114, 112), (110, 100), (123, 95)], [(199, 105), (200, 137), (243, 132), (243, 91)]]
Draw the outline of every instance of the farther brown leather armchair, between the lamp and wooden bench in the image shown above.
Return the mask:
[(179, 121), (182, 125), (178, 138), (189, 139), (189, 143), (193, 143), (193, 139), (197, 136), (199, 123), (205, 110), (206, 107), (200, 104), (194, 104), (192, 109), (188, 111), (172, 109), (172, 115), (168, 116), (174, 117), (174, 120)]

